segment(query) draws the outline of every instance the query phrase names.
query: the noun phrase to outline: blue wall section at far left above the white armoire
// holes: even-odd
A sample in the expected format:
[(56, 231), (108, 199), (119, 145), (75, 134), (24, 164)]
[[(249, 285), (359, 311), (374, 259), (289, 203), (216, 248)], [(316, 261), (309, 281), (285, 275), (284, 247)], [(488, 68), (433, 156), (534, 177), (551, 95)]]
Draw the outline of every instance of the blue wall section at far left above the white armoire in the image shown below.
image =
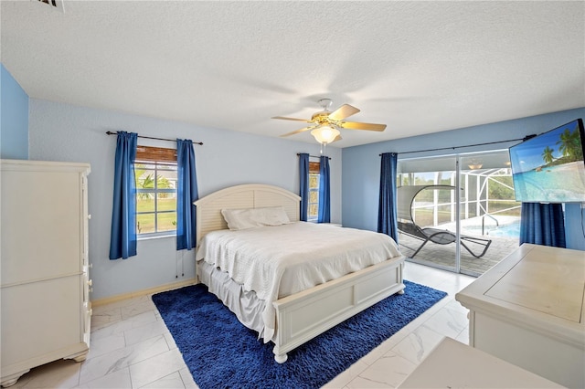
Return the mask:
[(0, 158), (28, 158), (28, 95), (4, 65), (0, 74)]

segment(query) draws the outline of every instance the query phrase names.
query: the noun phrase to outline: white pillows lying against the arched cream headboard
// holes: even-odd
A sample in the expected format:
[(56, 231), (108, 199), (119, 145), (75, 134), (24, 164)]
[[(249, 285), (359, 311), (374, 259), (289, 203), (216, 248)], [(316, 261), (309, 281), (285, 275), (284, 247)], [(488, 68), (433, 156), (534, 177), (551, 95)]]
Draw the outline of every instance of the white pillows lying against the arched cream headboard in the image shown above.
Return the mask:
[(291, 223), (282, 206), (222, 209), (221, 215), (228, 223), (229, 229), (233, 231), (256, 226), (282, 226)]

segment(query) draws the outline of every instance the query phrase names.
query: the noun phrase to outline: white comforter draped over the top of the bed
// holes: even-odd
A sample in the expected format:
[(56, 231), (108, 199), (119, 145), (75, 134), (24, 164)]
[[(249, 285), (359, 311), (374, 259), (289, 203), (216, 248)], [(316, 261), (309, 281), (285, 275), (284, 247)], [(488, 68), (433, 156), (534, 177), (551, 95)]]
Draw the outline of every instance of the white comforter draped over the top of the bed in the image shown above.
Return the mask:
[(266, 300), (264, 342), (274, 335), (273, 301), (395, 257), (399, 249), (387, 235), (306, 222), (210, 232), (197, 250), (197, 260)]

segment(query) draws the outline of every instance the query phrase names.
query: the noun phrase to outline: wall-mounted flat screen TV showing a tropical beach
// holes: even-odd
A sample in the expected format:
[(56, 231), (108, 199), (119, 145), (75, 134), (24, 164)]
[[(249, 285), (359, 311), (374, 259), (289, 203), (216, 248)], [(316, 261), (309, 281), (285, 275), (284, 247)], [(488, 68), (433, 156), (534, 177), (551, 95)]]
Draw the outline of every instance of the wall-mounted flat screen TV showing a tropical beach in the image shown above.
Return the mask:
[(577, 119), (510, 147), (516, 201), (585, 203), (585, 132)]

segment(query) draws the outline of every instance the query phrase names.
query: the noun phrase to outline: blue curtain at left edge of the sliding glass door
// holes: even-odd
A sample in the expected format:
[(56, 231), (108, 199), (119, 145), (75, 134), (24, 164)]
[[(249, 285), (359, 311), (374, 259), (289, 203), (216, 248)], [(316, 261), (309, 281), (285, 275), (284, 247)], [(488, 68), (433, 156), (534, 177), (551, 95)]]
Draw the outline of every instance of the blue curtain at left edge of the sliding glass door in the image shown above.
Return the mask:
[(398, 206), (396, 202), (396, 175), (398, 154), (384, 152), (380, 166), (380, 195), (378, 203), (378, 232), (399, 242)]

